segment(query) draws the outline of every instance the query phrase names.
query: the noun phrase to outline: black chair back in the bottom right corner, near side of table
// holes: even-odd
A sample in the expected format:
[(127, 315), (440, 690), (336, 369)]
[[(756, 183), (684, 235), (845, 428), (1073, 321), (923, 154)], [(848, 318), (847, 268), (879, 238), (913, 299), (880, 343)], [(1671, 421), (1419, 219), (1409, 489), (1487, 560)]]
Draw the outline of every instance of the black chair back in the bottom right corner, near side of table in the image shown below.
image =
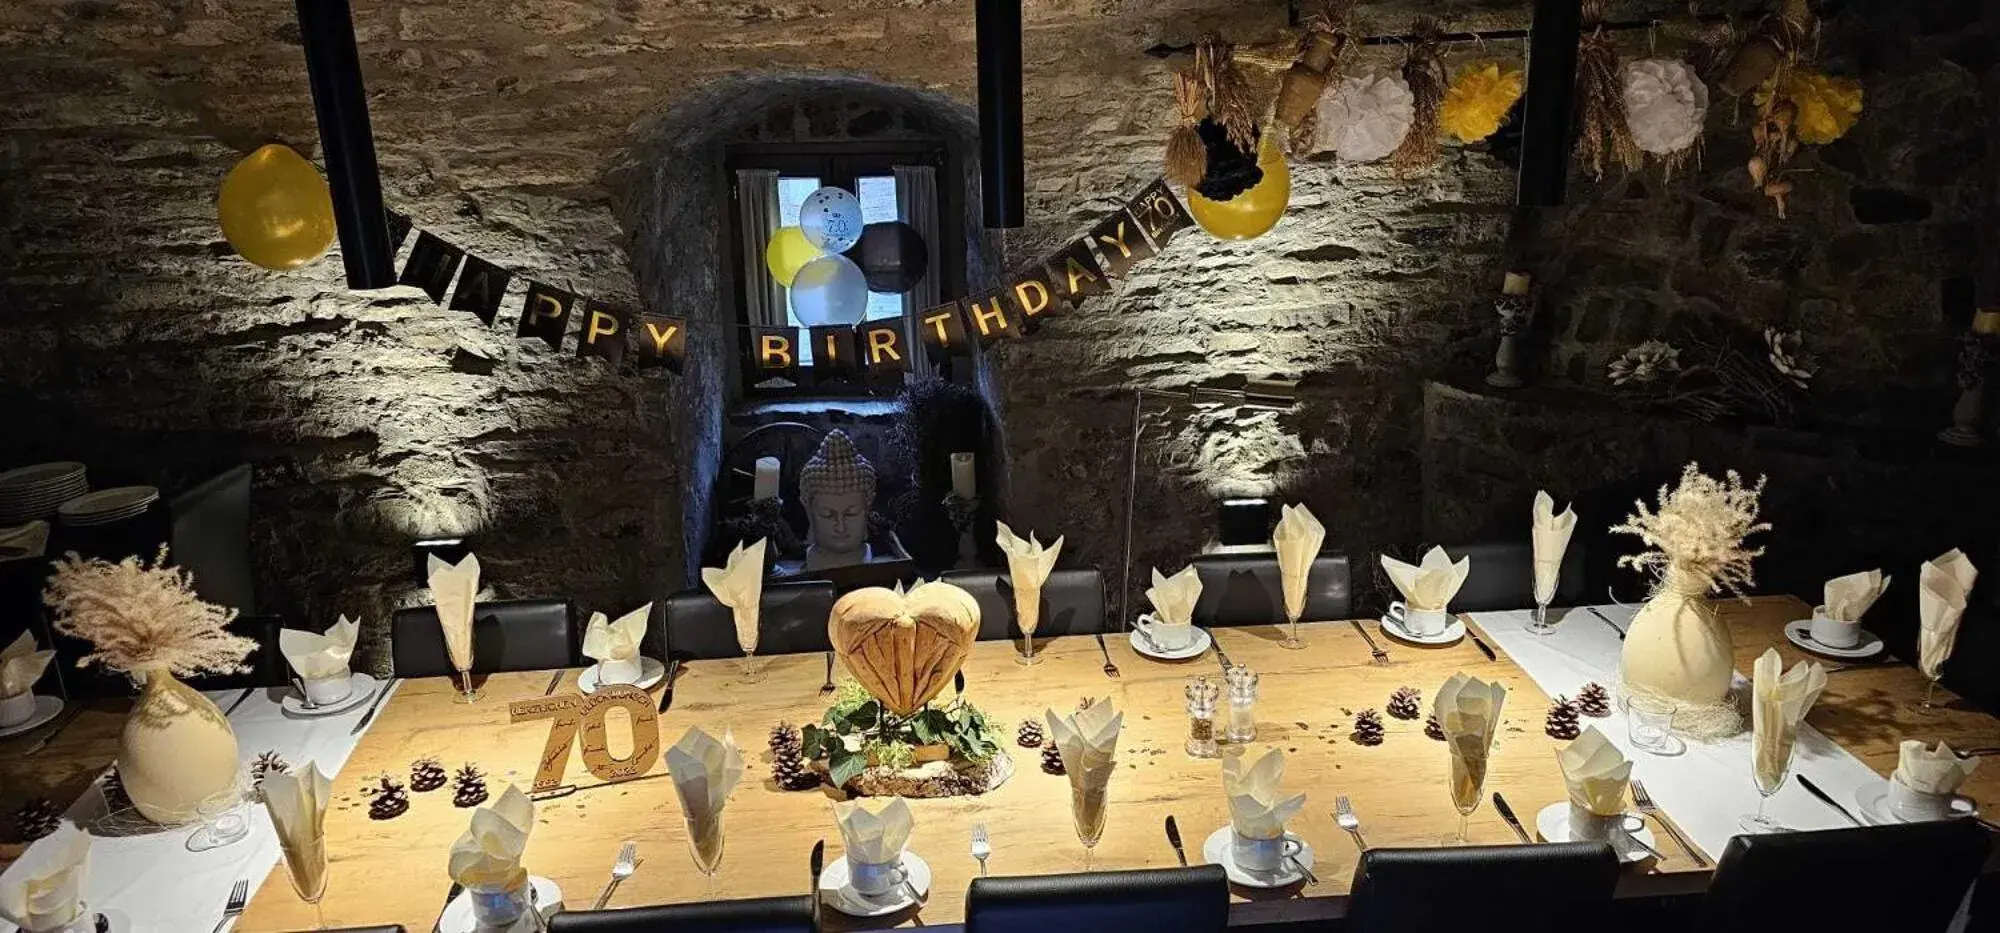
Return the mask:
[[(1970, 819), (1740, 835), (1716, 861), (1694, 929), (1940, 933), (1990, 847)], [(1850, 897), (1842, 883), (1852, 885)]]

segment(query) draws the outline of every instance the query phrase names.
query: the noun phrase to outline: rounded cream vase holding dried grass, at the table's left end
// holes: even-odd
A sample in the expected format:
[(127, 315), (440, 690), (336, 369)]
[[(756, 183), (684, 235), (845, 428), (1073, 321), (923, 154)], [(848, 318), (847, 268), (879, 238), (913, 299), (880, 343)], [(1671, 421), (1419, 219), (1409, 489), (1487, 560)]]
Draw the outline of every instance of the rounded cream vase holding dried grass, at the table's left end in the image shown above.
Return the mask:
[(236, 731), (208, 697), (164, 667), (140, 671), (140, 689), (118, 743), (118, 777), (140, 815), (174, 825), (236, 787)]

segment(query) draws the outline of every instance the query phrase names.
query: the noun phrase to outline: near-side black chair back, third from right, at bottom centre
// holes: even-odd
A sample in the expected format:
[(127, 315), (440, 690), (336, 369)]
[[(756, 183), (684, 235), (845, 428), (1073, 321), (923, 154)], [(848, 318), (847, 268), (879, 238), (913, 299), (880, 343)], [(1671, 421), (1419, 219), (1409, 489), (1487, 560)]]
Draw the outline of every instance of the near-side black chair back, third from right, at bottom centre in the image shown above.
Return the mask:
[(1220, 933), (1230, 925), (1230, 881), (1220, 865), (976, 877), (966, 933)]

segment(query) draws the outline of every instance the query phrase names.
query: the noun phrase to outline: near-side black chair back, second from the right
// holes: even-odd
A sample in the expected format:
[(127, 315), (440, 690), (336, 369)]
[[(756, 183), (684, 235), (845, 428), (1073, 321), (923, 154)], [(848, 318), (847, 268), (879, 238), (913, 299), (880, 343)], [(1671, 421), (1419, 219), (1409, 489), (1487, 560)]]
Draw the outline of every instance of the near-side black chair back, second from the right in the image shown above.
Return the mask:
[[(1348, 901), (1350, 933), (1606, 929), (1618, 857), (1604, 843), (1368, 849)], [(1496, 927), (1498, 929), (1498, 927)]]

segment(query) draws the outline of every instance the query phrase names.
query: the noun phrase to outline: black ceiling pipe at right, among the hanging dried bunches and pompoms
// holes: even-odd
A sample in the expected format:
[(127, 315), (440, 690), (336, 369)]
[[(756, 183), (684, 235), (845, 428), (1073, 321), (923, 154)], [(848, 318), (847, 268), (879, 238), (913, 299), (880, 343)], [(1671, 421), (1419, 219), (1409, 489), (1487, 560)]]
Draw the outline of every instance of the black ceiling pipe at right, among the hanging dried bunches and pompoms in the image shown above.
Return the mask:
[(1562, 204), (1570, 174), (1576, 110), (1576, 44), (1584, 36), (1580, 0), (1534, 0), (1528, 34), (1528, 90), (1522, 94), (1520, 188), (1514, 204)]

